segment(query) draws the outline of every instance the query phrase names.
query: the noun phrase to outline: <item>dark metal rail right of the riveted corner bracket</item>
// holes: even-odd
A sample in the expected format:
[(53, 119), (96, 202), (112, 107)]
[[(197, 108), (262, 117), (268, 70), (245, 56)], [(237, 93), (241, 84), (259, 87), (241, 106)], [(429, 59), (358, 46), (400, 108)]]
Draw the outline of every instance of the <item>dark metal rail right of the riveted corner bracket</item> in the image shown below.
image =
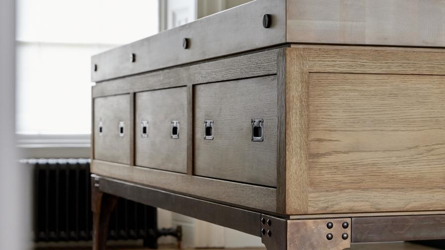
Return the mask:
[(352, 228), (352, 242), (441, 240), (445, 215), (353, 218)]

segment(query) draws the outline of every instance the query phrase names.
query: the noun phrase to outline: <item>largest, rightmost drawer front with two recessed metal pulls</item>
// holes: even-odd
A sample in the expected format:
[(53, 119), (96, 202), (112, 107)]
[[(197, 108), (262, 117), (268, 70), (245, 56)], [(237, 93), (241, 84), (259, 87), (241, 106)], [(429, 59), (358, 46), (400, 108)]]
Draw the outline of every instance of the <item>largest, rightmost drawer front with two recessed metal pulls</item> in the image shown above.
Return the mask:
[(194, 93), (194, 174), (276, 187), (276, 75), (197, 85)]

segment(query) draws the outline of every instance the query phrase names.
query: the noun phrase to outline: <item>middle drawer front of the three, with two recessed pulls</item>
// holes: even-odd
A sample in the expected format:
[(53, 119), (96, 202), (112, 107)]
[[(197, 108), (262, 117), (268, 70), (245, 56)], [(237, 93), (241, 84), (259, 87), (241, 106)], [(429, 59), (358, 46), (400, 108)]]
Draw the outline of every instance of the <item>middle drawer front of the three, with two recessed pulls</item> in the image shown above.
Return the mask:
[(187, 88), (136, 94), (136, 165), (187, 172)]

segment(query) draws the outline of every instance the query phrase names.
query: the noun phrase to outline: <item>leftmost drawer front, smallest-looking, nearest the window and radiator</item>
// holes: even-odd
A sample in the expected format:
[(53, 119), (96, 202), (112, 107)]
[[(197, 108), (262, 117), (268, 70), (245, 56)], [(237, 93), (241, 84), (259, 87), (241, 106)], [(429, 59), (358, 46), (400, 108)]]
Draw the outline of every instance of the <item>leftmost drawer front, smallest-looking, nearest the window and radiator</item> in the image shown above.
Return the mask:
[(94, 158), (130, 164), (130, 96), (94, 99)]

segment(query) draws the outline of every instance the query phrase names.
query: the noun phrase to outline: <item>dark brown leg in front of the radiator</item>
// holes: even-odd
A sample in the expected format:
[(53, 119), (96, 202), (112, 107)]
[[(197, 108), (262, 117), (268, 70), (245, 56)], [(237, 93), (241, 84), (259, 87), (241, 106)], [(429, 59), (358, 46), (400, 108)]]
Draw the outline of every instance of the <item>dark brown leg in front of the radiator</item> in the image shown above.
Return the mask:
[(93, 250), (107, 248), (108, 223), (117, 204), (117, 196), (101, 192), (99, 180), (91, 180), (91, 210), (93, 212)]

